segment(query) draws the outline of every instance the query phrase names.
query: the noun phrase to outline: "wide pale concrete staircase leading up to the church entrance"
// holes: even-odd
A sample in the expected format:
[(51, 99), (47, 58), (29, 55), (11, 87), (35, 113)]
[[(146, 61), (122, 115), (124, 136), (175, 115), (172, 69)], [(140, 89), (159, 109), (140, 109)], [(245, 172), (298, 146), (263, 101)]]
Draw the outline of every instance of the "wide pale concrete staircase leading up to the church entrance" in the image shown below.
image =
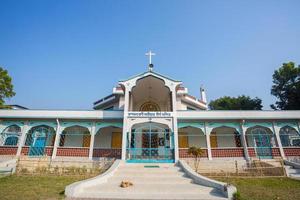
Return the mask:
[[(122, 181), (133, 186), (121, 188)], [(120, 164), (106, 183), (86, 187), (79, 199), (227, 199), (212, 187), (193, 183), (174, 164)], [(74, 199), (74, 198), (69, 198)]]

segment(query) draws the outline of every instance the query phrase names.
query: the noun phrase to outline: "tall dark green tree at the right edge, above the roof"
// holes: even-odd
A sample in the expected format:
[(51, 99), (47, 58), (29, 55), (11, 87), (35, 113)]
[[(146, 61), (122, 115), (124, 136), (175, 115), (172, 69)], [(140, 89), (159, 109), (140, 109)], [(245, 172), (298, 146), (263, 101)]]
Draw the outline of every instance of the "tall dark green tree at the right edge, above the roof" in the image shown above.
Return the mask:
[(271, 94), (277, 97), (275, 110), (300, 110), (300, 65), (283, 63), (273, 74)]

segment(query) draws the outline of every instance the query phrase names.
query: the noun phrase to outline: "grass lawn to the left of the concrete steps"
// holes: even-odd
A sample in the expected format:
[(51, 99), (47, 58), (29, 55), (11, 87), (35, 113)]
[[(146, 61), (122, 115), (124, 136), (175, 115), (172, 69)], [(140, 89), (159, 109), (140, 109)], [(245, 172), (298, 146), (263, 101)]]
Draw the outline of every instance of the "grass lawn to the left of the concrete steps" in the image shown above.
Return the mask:
[(64, 199), (66, 185), (78, 180), (78, 177), (7, 176), (0, 178), (0, 199)]

